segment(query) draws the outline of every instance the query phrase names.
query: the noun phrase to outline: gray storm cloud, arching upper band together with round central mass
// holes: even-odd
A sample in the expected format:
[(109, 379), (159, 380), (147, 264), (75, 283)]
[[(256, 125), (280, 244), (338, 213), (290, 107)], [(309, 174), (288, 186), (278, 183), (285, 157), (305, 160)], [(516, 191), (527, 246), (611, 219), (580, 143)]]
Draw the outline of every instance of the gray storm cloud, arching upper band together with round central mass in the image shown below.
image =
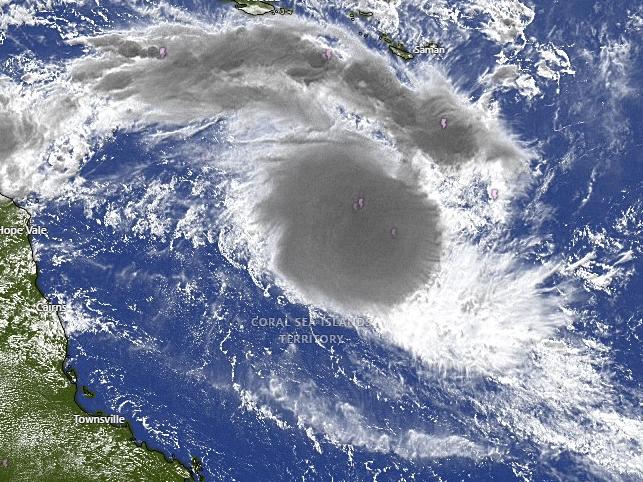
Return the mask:
[[(444, 168), (524, 159), (443, 76), (406, 85), (336, 27), (166, 24), (74, 42), (90, 52), (71, 64), (71, 82), (107, 99), (119, 123), (228, 121), (244, 146), (228, 167), (247, 180), (247, 222), (269, 240), (269, 268), (321, 306), (387, 308), (437, 271), (440, 210), (417, 180), (418, 159)], [(25, 132), (7, 118), (5, 133)]]

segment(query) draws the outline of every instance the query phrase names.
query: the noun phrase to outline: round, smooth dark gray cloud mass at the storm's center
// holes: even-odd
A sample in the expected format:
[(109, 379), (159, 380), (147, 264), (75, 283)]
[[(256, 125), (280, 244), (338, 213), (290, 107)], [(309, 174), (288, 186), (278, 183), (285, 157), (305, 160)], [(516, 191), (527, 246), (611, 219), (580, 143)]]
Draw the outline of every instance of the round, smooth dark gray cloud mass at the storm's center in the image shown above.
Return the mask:
[(276, 231), (277, 271), (308, 300), (350, 311), (404, 301), (440, 254), (435, 203), (366, 153), (363, 145), (299, 149), (269, 171), (273, 187), (258, 210)]

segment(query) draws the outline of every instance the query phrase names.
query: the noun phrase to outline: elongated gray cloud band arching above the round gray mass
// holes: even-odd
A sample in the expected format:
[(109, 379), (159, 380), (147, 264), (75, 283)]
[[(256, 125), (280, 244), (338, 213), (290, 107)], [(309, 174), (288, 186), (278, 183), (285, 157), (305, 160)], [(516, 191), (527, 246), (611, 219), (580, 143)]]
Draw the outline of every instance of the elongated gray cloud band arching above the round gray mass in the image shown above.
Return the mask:
[[(329, 34), (343, 51), (331, 48), (326, 57), (322, 37)], [(419, 149), (443, 164), (521, 155), (446, 80), (406, 86), (383, 57), (332, 27), (283, 21), (209, 33), (163, 26), (138, 39), (109, 34), (86, 41), (107, 55), (78, 63), (74, 77), (93, 79), (96, 90), (115, 98), (152, 105), (145, 112), (152, 119), (181, 123), (262, 112), (319, 132), (335, 122), (329, 107), (337, 104), (380, 123), (407, 155)], [(167, 47), (167, 58), (150, 58), (158, 45)], [(440, 125), (443, 117), (448, 129)]]

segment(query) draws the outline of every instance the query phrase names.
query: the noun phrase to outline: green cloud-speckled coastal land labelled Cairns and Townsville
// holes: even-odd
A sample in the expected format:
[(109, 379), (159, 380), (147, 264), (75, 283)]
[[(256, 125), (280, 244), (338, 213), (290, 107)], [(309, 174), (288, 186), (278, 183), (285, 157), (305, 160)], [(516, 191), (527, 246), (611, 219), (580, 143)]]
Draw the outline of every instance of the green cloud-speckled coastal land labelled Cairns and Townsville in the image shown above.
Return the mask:
[[(27, 213), (0, 197), (0, 226), (22, 227)], [(23, 230), (26, 233), (26, 230)], [(75, 376), (62, 365), (66, 339), (36, 284), (26, 234), (0, 234), (0, 481), (165, 482), (189, 471), (145, 444), (128, 427), (80, 424)], [(82, 396), (94, 396), (87, 387)]]

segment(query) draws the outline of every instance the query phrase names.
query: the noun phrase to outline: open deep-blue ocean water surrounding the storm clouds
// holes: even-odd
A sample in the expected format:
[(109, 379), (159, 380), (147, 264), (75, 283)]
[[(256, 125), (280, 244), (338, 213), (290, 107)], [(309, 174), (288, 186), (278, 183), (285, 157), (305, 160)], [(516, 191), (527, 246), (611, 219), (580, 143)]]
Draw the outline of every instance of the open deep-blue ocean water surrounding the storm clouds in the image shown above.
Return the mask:
[[(206, 17), (217, 15), (216, 8), (201, 3), (182, 5)], [(543, 178), (553, 177), (547, 185), (533, 185), (516, 201), (516, 208), (528, 212), (538, 198), (555, 215), (539, 225), (519, 218), (508, 229), (515, 236), (546, 234), (555, 246), (551, 257), (578, 259), (598, 250), (599, 257), (615, 261), (617, 253), (609, 247), (596, 247), (578, 236), (586, 227), (604, 230), (624, 249), (640, 253), (641, 228), (623, 231), (615, 224), (627, 209), (642, 208), (641, 100), (620, 98), (615, 87), (597, 84), (598, 67), (584, 53), (600, 50), (607, 38), (631, 35), (625, 31), (626, 7), (623, 2), (591, 8), (585, 2), (540, 3), (527, 35), (568, 47), (576, 74), (560, 79), (560, 94), (554, 83), (543, 99), (531, 103), (513, 91), (498, 95), (511, 128), (531, 140), (547, 160)], [(95, 8), (56, 8), (47, 15), (79, 25), (87, 25), (81, 17), (98, 22), (85, 33), (125, 27), (134, 15), (123, 5), (103, 3), (101, 11), (115, 19), (108, 24)], [(341, 10), (335, 14), (354, 28)], [(411, 9), (405, 20), (412, 22), (414, 14)], [(429, 31), (432, 25), (422, 28)], [(368, 42), (378, 48), (375, 37)], [(0, 60), (25, 49), (43, 60), (82, 54), (52, 28), (24, 26), (8, 36)], [(494, 65), (494, 49), (482, 35), (472, 34), (448, 61), (449, 73), (473, 96), (482, 91), (476, 79)], [(640, 65), (634, 74), (639, 83)], [(11, 72), (20, 77), (19, 68)], [(621, 132), (619, 123), (627, 130)], [(184, 142), (205, 143), (217, 156), (233, 148), (217, 141), (221, 129), (215, 125)], [(342, 412), (343, 400), (366, 413), (364, 423), (381, 433), (414, 428), (481, 440), (471, 420), (493, 423), (494, 418), (472, 399), (454, 399), (437, 380), (430, 383), (406, 352), (352, 329), (316, 327), (317, 333), (340, 332), (346, 343), (301, 344), (293, 352), (279, 341), (279, 335), (292, 333), (292, 328), (253, 327), (250, 320), (255, 317), (305, 317), (307, 311), (280, 304), (281, 292), (273, 286), (266, 296), (244, 269), (243, 253), (233, 265), (219, 251), (219, 233), (227, 229), (221, 215), (230, 179), (192, 159), (176, 141), (149, 144), (148, 134), (116, 132), (79, 172), (78, 195), (45, 205), (34, 221), (50, 233), (39, 249), (40, 288), (53, 299), (60, 295), (70, 306), (84, 307), (87, 317), (83, 329), (76, 327), (79, 320), (63, 320), (69, 336), (66, 365), (78, 374), (79, 385), (96, 393), (95, 398), (79, 398), (85, 409), (125, 416), (137, 439), (186, 465), (192, 456), (200, 457), (206, 480), (523, 480), (509, 460), (530, 465), (532, 480), (592, 480), (573, 454), (546, 453), (536, 444), (512, 439), (502, 426), (486, 435), (503, 440), (504, 457), (481, 461), (410, 460), (307, 435), (293, 410), (262, 397), (262, 390), (275, 389), (270, 385), (273, 375), (281, 380), (278, 390), (286, 398), (309, 404), (337, 426), (352, 426), (351, 413)], [(566, 162), (570, 153), (575, 158), (571, 164)], [(583, 202), (590, 185), (591, 195)], [(191, 209), (211, 225), (196, 225), (196, 238), (194, 233), (175, 236), (189, 230), (180, 223)], [(106, 216), (115, 210), (125, 215), (105, 225)], [(640, 269), (626, 289), (588, 292), (579, 306), (587, 316), (574, 330), (611, 348), (612, 364), (606, 369), (616, 373), (624, 404), (635, 403), (641, 386), (642, 292)], [(608, 329), (597, 330), (593, 320), (601, 320)], [(297, 331), (310, 333), (310, 328)], [(369, 377), (377, 373), (398, 376), (414, 395), (387, 397), (369, 384)], [(494, 390), (493, 380), (477, 383), (480, 386), (467, 390)], [(253, 395), (244, 387), (255, 388)], [(250, 398), (244, 399), (246, 395)], [(278, 427), (270, 414), (262, 417), (244, 408), (252, 404), (271, 407), (286, 427)]]

